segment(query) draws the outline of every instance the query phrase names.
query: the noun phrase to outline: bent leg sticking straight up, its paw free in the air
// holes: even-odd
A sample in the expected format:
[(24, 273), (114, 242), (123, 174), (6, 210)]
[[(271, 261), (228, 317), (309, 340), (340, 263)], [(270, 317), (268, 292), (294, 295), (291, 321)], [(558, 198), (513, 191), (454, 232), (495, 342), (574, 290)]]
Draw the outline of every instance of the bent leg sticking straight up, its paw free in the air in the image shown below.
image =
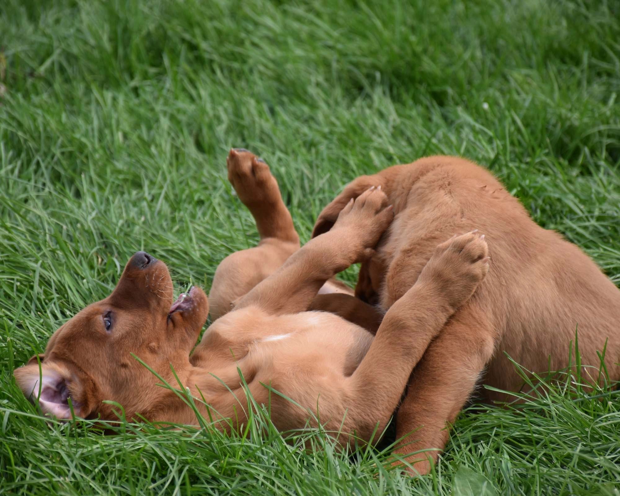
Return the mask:
[(211, 321), (223, 316), (231, 303), (275, 272), (299, 249), (299, 236), (269, 166), (244, 149), (231, 149), (228, 180), (239, 200), (254, 216), (258, 246), (228, 255), (215, 271), (211, 285)]

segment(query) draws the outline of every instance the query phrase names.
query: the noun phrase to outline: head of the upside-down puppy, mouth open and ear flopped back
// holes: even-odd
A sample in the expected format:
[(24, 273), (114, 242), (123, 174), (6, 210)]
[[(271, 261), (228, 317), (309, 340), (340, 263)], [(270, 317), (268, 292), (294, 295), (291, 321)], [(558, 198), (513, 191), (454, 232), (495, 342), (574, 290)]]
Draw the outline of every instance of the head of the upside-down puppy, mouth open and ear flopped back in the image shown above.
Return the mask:
[(188, 366), (208, 314), (197, 287), (173, 303), (166, 264), (138, 252), (127, 263), (112, 294), (65, 322), (51, 336), (45, 353), (15, 370), (25, 396), (38, 397), (45, 414), (71, 418), (116, 418), (102, 401), (120, 403), (131, 418), (148, 415), (156, 403), (157, 382), (138, 356), (164, 379)]

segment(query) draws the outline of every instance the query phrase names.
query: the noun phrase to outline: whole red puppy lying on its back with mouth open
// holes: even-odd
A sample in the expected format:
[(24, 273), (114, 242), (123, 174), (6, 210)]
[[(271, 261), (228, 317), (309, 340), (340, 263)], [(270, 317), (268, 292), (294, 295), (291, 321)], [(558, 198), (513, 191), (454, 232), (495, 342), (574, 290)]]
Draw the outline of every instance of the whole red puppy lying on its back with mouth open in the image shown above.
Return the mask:
[[(261, 241), (218, 268), (211, 299), (215, 317), (223, 316), (194, 352), (208, 313), (205, 293), (194, 287), (173, 302), (166, 265), (138, 252), (110, 296), (63, 324), (44, 355), (15, 370), (17, 383), (59, 418), (70, 418), (73, 407), (82, 418), (115, 419), (103, 402), (111, 400), (127, 418), (197, 423), (193, 410), (174, 391), (157, 387), (159, 379), (133, 354), (176, 386), (172, 365), (201, 413), (207, 417), (209, 410), (218, 427), (236, 430), (247, 422), (248, 407), (239, 369), (254, 399), (270, 404), (280, 430), (316, 425), (320, 418), (325, 429), (342, 433), (340, 443), (352, 435), (370, 440), (389, 421), (429, 343), (485, 277), (486, 242), (476, 232), (438, 242), (373, 337), (340, 316), (308, 309), (319, 304), (313, 303), (317, 293), (335, 273), (374, 253), (393, 218), (381, 188), (360, 192), (340, 209), (329, 232), (298, 249), (267, 164), (231, 151), (228, 167)], [(370, 320), (376, 317), (374, 309), (368, 312)]]

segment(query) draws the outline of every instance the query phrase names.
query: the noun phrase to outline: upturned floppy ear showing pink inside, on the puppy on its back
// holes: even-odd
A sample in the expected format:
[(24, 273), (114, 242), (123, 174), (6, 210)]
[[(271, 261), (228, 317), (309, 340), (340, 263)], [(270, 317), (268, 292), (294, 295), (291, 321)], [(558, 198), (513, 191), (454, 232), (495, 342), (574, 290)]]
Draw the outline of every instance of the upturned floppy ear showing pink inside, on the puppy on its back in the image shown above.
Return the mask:
[(82, 403), (74, 399), (83, 396), (80, 379), (64, 366), (48, 365), (43, 362), (39, 366), (37, 356), (43, 355), (33, 356), (27, 365), (14, 371), (15, 381), (24, 392), (24, 396), (32, 402), (36, 402), (38, 397), (38, 404), (44, 414), (62, 420), (71, 418), (69, 398), (76, 417), (87, 414), (82, 411)]

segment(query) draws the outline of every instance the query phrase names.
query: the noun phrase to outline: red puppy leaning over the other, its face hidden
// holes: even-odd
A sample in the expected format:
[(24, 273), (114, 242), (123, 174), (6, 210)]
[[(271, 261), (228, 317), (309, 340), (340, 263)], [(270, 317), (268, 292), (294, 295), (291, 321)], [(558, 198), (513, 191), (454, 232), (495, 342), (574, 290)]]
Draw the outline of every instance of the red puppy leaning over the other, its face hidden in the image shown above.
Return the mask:
[[(325, 207), (313, 236), (329, 231), (348, 201), (371, 185), (381, 185), (395, 218), (376, 254), (361, 266), (355, 294), (364, 301), (392, 308), (418, 280), (434, 247), (454, 232), (478, 228), (491, 242), (493, 270), (409, 379), (397, 436), (418, 430), (400, 453), (442, 449), (446, 423), (454, 421), (480, 378), (518, 391), (523, 381), (505, 353), (535, 373), (560, 370), (569, 365), (578, 329), (583, 376), (594, 383), (620, 379), (620, 291), (577, 246), (534, 223), (487, 170), (436, 156), (358, 177)], [(603, 350), (608, 378), (599, 374), (597, 352)], [(479, 392), (489, 400), (507, 399)], [(433, 460), (437, 453), (427, 452)], [(425, 456), (410, 461), (421, 458), (415, 469), (427, 472)]]

